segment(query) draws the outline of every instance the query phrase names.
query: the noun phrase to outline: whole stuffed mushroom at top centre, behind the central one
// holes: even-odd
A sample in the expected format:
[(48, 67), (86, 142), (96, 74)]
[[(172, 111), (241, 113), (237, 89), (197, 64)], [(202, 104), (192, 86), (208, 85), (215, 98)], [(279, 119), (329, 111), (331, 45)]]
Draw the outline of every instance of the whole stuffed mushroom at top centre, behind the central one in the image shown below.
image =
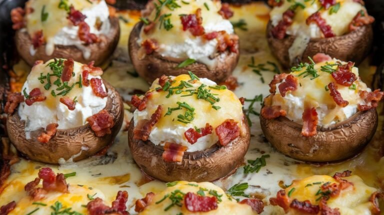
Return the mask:
[(239, 57), (238, 37), (227, 20), (232, 15), (219, 1), (149, 1), (129, 36), (134, 68), (149, 83), (187, 71), (224, 81)]

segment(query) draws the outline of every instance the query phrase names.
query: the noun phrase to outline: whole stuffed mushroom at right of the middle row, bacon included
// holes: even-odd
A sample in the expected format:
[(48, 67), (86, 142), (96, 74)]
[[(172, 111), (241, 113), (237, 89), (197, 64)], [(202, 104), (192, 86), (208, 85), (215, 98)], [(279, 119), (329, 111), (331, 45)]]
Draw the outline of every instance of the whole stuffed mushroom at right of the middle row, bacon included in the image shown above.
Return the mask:
[(266, 139), (292, 158), (312, 162), (358, 153), (377, 127), (384, 92), (371, 91), (353, 62), (316, 54), (311, 63), (275, 75), (260, 123)]

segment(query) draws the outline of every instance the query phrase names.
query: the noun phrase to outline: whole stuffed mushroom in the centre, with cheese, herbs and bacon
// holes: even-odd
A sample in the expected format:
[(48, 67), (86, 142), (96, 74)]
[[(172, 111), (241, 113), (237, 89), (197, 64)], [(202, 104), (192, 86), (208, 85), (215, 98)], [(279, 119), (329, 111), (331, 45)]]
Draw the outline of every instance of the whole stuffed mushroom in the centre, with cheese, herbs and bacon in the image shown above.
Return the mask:
[(143, 96), (128, 129), (137, 165), (162, 181), (213, 181), (243, 162), (249, 127), (225, 86), (193, 73), (161, 76)]

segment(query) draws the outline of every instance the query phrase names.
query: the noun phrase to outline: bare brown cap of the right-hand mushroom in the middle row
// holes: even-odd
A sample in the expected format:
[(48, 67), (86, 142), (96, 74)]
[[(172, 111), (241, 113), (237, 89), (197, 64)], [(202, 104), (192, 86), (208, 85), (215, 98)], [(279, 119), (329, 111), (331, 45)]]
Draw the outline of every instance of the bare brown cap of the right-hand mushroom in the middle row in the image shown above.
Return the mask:
[(375, 109), (357, 112), (347, 120), (317, 126), (312, 137), (301, 135), (302, 125), (286, 117), (267, 120), (260, 115), (265, 138), (281, 153), (302, 161), (339, 161), (357, 154), (373, 137), (377, 127)]

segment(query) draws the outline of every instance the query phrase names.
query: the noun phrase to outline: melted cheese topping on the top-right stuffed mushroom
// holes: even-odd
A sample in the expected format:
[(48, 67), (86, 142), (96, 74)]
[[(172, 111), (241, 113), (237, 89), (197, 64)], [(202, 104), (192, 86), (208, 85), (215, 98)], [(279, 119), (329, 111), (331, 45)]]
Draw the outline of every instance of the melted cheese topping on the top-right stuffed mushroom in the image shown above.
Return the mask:
[[(296, 8), (293, 23), (287, 28), (286, 33), (290, 35), (307, 34), (312, 38), (323, 37), (316, 24), (307, 25), (305, 23), (307, 17), (320, 9), (321, 4), (320, 1), (317, 0), (284, 0), (281, 6), (273, 7), (270, 12), (273, 26), (277, 25), (278, 21), (282, 19), (282, 13), (295, 2), (301, 3), (305, 8), (301, 8), (300, 6)], [(340, 7), (336, 13), (329, 14), (330, 8), (328, 8), (320, 9), (320, 15), (325, 19), (326, 23), (331, 26), (336, 36), (339, 36), (348, 32), (349, 23), (364, 6), (353, 0), (336, 0), (336, 2), (340, 3)]]

